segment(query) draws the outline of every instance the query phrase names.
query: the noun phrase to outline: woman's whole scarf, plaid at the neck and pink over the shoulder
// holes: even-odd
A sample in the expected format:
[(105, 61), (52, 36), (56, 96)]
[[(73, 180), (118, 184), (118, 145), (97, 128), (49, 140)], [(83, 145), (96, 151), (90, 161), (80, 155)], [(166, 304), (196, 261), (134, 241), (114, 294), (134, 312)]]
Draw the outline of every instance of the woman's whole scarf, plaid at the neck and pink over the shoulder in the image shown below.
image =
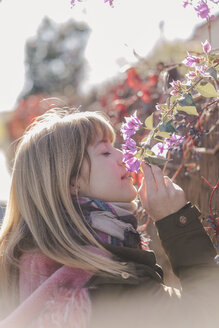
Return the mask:
[[(98, 241), (141, 248), (141, 238), (136, 231), (135, 202), (109, 203), (85, 197), (73, 199), (73, 202)], [(70, 229), (72, 237), (78, 238), (77, 230)], [(83, 243), (82, 247), (106, 256), (96, 247)], [(84, 285), (91, 277), (89, 272), (60, 265), (39, 252), (23, 254), (20, 258), (20, 306), (0, 322), (0, 328), (87, 328), (91, 302)]]

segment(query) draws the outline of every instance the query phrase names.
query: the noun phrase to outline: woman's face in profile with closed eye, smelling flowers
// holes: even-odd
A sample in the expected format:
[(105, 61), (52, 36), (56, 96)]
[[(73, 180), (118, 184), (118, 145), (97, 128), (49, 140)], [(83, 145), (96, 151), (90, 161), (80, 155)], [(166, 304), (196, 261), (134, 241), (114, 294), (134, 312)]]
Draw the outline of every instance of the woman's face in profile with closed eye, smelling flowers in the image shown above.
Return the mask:
[(97, 198), (108, 202), (130, 202), (135, 199), (137, 191), (132, 178), (122, 162), (123, 154), (109, 141), (98, 139), (88, 147), (91, 160), (89, 166), (84, 160), (78, 179), (79, 196)]

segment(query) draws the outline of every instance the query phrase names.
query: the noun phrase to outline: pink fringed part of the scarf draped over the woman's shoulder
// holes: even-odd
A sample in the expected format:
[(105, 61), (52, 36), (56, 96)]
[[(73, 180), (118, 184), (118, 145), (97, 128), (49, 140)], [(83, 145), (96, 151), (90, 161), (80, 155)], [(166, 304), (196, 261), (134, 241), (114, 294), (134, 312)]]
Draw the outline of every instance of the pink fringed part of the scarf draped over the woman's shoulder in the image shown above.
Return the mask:
[(91, 302), (83, 286), (92, 273), (61, 266), (41, 253), (23, 254), (20, 264), (20, 305), (0, 328), (88, 327)]

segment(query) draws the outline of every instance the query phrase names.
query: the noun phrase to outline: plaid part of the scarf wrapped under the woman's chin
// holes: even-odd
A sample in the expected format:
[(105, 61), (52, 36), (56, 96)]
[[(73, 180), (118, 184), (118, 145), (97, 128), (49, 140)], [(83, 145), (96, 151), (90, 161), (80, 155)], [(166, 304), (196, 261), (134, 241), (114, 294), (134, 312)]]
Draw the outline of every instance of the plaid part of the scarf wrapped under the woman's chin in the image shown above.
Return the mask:
[(73, 199), (79, 215), (83, 216), (93, 236), (102, 243), (142, 248), (137, 232), (136, 202), (105, 202), (79, 197)]

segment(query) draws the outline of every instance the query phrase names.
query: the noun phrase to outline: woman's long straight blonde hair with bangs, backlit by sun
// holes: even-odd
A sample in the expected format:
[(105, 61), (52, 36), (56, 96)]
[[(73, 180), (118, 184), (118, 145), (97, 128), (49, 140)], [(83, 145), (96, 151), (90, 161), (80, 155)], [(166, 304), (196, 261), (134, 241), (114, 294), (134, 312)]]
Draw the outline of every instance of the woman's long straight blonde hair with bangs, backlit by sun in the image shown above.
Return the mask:
[[(102, 134), (114, 142), (108, 120), (97, 112), (53, 109), (38, 117), (19, 141), (9, 201), (0, 233), (0, 295), (17, 303), (19, 257), (39, 250), (58, 263), (85, 270), (121, 272), (120, 264), (73, 239), (102, 246), (76, 211), (70, 181), (80, 175), (88, 145)], [(70, 228), (70, 229), (69, 229)], [(12, 295), (13, 296), (10, 296)]]

